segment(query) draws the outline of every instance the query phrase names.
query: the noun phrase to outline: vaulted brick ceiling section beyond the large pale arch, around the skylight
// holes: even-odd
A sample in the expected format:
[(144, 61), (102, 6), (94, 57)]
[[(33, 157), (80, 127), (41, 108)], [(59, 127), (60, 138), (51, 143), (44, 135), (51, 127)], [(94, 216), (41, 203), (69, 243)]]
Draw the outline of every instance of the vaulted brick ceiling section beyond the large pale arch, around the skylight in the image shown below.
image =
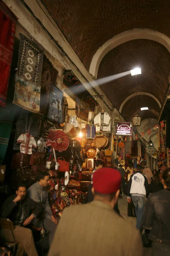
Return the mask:
[[(102, 85), (103, 90), (118, 109), (122, 102), (136, 91), (150, 93), (160, 102), (164, 99), (169, 84), (170, 53), (164, 46), (155, 41), (136, 39), (112, 49), (102, 59), (98, 77), (122, 73), (134, 67), (141, 67), (142, 69), (142, 74), (138, 75), (137, 78), (128, 75)], [(159, 106), (152, 98), (143, 96), (143, 99), (146, 99), (146, 102), (140, 102), (138, 97), (138, 111), (141, 107), (151, 107), (159, 112)], [(129, 104), (129, 102), (131, 100), (127, 103)], [(150, 102), (152, 102), (153, 107)], [(133, 107), (136, 111), (136, 106), (133, 105)], [(130, 113), (132, 116), (132, 111)], [(127, 114), (124, 116), (129, 118)]]

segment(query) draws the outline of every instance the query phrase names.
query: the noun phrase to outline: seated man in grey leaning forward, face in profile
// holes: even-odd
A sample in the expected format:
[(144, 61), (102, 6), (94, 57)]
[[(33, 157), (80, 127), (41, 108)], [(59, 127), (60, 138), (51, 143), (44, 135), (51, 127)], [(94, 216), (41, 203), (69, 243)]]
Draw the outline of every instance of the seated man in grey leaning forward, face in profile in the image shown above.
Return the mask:
[(37, 203), (41, 203), (44, 207), (43, 221), (35, 218), (33, 224), (35, 227), (44, 227), (49, 232), (49, 243), (51, 244), (53, 236), (57, 227), (57, 220), (54, 218), (49, 202), (46, 187), (49, 183), (49, 174), (46, 172), (39, 172), (37, 175), (37, 183), (34, 183), (28, 189), (28, 197)]

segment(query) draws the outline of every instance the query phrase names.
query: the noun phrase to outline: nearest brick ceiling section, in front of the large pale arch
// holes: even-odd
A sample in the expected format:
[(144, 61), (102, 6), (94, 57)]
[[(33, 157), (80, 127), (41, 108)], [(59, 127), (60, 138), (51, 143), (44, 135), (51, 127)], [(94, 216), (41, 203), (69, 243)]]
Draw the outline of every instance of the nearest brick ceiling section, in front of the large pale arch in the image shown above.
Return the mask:
[(134, 28), (170, 36), (170, 0), (42, 0), (89, 69), (96, 50)]

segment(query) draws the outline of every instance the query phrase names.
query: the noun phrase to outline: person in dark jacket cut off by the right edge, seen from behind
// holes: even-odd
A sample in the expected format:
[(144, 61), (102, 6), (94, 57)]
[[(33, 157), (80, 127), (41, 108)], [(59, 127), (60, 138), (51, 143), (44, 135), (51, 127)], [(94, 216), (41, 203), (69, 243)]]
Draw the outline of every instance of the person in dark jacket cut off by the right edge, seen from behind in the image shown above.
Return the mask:
[(144, 209), (144, 229), (152, 241), (152, 256), (170, 255), (170, 168), (162, 174), (164, 189), (151, 194)]

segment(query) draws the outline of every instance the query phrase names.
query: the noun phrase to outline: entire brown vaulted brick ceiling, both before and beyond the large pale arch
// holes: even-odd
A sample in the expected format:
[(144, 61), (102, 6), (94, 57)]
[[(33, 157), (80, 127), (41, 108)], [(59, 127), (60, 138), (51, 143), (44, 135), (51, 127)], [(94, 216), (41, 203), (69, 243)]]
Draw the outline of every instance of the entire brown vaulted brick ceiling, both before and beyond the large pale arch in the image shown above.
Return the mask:
[[(146, 28), (170, 37), (170, 0), (42, 0), (42, 2), (88, 70), (97, 49), (121, 32)], [(136, 66), (142, 68), (142, 75), (137, 76), (137, 92), (151, 93), (162, 103), (169, 83), (170, 53), (155, 41), (132, 40), (112, 49), (102, 59), (98, 78), (125, 72)], [(136, 92), (136, 77), (125, 76), (102, 85), (102, 88), (119, 109), (127, 96)], [(157, 118), (159, 106), (152, 98), (143, 96), (139, 100), (138, 111), (142, 105), (150, 108), (150, 111), (142, 113), (143, 119)], [(130, 99), (122, 113), (126, 119), (130, 119), (135, 111), (136, 103)]]

